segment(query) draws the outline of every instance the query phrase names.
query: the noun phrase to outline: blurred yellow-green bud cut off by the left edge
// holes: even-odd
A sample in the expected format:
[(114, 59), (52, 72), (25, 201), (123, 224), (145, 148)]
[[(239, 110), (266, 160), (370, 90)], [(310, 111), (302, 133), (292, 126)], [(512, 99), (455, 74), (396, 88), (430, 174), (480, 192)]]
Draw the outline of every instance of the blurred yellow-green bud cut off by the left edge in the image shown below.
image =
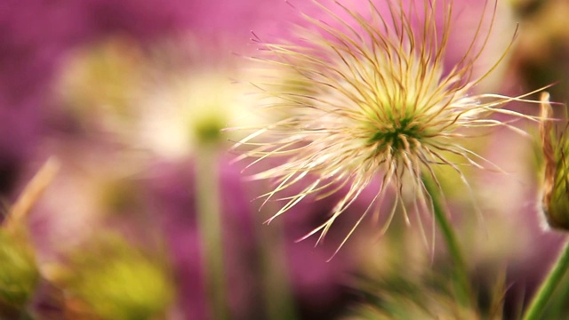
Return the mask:
[(39, 271), (28, 239), (0, 228), (0, 310), (20, 312), (36, 290)]

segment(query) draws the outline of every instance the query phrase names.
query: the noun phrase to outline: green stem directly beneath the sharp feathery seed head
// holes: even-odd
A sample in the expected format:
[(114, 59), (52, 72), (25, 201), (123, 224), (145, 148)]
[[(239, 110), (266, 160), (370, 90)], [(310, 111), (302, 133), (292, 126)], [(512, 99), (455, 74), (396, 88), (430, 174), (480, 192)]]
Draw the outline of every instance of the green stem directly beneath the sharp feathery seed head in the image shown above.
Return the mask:
[(458, 300), (464, 307), (470, 307), (472, 305), (472, 290), (470, 288), (466, 260), (464, 260), (464, 256), (461, 252), (461, 245), (459, 244), (458, 238), (454, 233), (453, 226), (448, 220), (445, 209), (440, 203), (440, 200), (437, 196), (437, 188), (433, 185), (433, 182), (429, 178), (424, 178), (423, 182), (425, 184), (425, 188), (427, 188), (427, 191), (431, 196), (431, 199), (433, 200), (435, 220), (437, 220), (438, 227), (442, 231), (442, 236), (445, 239), (448, 253), (453, 260), (453, 271), (456, 279), (456, 284), (458, 286)]

